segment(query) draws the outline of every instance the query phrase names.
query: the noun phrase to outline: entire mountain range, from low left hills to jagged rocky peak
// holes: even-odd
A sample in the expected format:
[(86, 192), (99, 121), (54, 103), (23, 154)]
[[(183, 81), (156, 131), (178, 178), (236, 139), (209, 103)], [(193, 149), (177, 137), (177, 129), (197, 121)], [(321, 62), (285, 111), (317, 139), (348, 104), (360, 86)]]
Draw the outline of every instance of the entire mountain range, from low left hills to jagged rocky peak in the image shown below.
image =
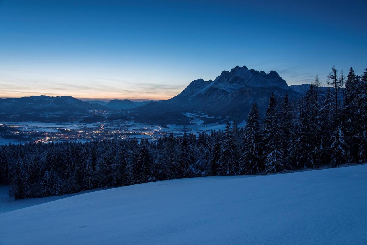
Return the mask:
[[(285, 94), (290, 100), (295, 100), (304, 96), (309, 86), (288, 86), (276, 71), (265, 73), (236, 66), (230, 71), (223, 71), (214, 81), (193, 80), (177, 96), (164, 101), (81, 101), (70, 96), (0, 99), (0, 120), (68, 121), (107, 111), (113, 115), (110, 118), (128, 116), (148, 124), (189, 124), (190, 118), (184, 115), (187, 112), (196, 114), (204, 123), (241, 122), (247, 118), (253, 102), (264, 114), (272, 92), (279, 101)], [(326, 87), (321, 87), (320, 93), (326, 90)]]

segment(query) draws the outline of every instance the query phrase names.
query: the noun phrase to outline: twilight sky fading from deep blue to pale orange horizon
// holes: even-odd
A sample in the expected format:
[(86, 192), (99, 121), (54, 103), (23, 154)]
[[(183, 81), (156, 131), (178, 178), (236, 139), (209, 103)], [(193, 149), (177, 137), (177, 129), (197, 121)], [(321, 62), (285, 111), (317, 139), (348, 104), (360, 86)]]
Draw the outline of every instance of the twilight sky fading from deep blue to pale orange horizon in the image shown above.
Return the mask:
[(367, 0), (0, 0), (0, 97), (167, 99), (236, 65), (367, 67)]

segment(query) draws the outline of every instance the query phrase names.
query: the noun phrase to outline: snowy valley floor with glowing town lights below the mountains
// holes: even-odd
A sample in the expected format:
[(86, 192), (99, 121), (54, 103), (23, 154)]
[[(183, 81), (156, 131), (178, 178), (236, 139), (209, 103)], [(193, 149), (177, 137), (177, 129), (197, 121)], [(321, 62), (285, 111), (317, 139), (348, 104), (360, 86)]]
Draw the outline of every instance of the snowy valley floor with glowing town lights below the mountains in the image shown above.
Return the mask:
[[(199, 115), (198, 115), (199, 114)], [(30, 142), (56, 143), (63, 141), (87, 142), (102, 140), (122, 140), (127, 138), (148, 138), (157, 140), (167, 134), (182, 136), (188, 133), (223, 130), (225, 124), (203, 124), (202, 113), (186, 113), (188, 125), (154, 125), (137, 123), (133, 120), (115, 120), (96, 123), (49, 123), (49, 122), (0, 122), (0, 145), (25, 144)], [(244, 126), (245, 122), (240, 123)]]

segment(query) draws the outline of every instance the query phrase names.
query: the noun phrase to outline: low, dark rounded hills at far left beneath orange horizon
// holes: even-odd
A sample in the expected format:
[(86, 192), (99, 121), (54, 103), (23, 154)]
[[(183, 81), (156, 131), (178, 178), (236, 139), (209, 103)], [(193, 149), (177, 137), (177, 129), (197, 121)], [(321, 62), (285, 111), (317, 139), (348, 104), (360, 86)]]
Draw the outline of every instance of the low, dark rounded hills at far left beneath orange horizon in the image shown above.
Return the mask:
[(0, 100), (0, 120), (62, 122), (109, 108), (71, 96), (30, 96)]

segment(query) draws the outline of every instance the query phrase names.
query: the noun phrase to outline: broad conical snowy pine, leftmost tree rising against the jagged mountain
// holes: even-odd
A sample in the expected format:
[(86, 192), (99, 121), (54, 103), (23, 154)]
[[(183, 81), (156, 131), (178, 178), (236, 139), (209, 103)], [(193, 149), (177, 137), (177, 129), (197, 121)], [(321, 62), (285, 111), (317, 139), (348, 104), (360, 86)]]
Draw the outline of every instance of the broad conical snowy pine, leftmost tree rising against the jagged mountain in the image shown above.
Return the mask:
[(244, 128), (242, 155), (239, 161), (239, 174), (254, 174), (261, 172), (263, 166), (262, 128), (260, 124), (259, 109), (256, 103), (247, 117)]

